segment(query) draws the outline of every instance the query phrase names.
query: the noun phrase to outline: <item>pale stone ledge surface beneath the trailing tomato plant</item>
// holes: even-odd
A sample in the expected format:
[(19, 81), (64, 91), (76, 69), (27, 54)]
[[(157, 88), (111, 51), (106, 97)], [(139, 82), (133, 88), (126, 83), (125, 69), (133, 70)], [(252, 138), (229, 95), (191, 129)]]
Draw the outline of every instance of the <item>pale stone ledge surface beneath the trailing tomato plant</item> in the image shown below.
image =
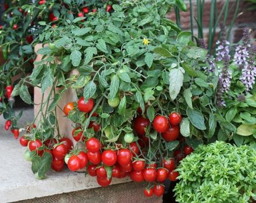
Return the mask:
[[(33, 121), (33, 108), (24, 109), (20, 121)], [(0, 197), (1, 202), (14, 202), (35, 197), (70, 193), (73, 191), (99, 187), (95, 177), (84, 173), (50, 171), (47, 179), (37, 180), (31, 172), (31, 162), (23, 158), (25, 147), (20, 146), (10, 131), (4, 131), (4, 119), (0, 117)], [(112, 184), (127, 182), (129, 179), (113, 179)]]

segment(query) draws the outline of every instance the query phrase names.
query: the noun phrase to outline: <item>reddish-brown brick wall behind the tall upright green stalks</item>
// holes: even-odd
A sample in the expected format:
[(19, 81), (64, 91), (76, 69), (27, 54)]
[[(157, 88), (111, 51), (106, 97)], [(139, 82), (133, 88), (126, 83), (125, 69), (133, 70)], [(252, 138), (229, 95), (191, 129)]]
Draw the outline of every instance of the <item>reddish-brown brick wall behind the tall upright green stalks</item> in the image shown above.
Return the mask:
[[(230, 0), (229, 1), (229, 8), (232, 7), (232, 4), (236, 0)], [(181, 21), (181, 26), (183, 30), (190, 30), (190, 5), (189, 1), (186, 0), (187, 3), (187, 12), (180, 12), (180, 21)], [(222, 1), (217, 1), (217, 7), (218, 7), (218, 13), (221, 12), (222, 6), (225, 3), (224, 0)], [(239, 16), (235, 20), (232, 28), (232, 32), (230, 34), (230, 41), (231, 42), (238, 42), (241, 37), (243, 36), (243, 28), (248, 27), (251, 28), (254, 33), (252, 34), (253, 37), (255, 38), (255, 30), (256, 30), (256, 10), (250, 10), (250, 3), (246, 1), (240, 1), (240, 6), (239, 6)], [(209, 25), (209, 17), (210, 17), (210, 9), (211, 8), (211, 0), (205, 0), (205, 5), (204, 5), (204, 16), (203, 16), (203, 25), (204, 25), (204, 38), (205, 41), (207, 42), (208, 39), (208, 25)], [(197, 3), (196, 1), (193, 1), (193, 10), (194, 10), (194, 16), (197, 17)], [(232, 9), (230, 9), (229, 16), (227, 17), (226, 21), (226, 26), (229, 26), (230, 22), (232, 21), (232, 17), (234, 14), (235, 10), (235, 5), (233, 6)], [(169, 13), (168, 14), (169, 19), (176, 21), (175, 19), (175, 13)], [(221, 22), (222, 20), (220, 20)], [(194, 35), (197, 37), (197, 23), (194, 20), (193, 21), (193, 26), (194, 26)], [(218, 31), (217, 30), (217, 36), (215, 40), (218, 38)]]

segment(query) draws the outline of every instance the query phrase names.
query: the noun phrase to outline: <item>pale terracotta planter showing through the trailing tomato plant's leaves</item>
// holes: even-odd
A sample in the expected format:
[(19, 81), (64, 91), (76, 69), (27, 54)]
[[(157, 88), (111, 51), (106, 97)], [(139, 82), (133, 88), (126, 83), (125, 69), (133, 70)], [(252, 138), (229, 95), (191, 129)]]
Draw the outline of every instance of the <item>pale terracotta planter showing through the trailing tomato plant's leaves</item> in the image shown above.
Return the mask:
[[(46, 45), (47, 46), (47, 45)], [(37, 51), (39, 49), (42, 48), (42, 44), (38, 44), (35, 46), (35, 53), (37, 53)], [(40, 61), (42, 60), (42, 55), (37, 55), (37, 57), (35, 58), (35, 61)], [(36, 66), (34, 67), (36, 68)], [(73, 74), (77, 74), (76, 70), (73, 70), (70, 72), (71, 75)], [(56, 93), (60, 92), (62, 88), (55, 88)], [(45, 93), (44, 93), (44, 101), (46, 100), (46, 98), (49, 95), (51, 88), (48, 88)], [(52, 94), (53, 96), (53, 94)], [(41, 99), (42, 99), (42, 92), (40, 88), (34, 88), (34, 114), (37, 115), (38, 111), (40, 110), (40, 103), (41, 103)], [(69, 88), (66, 90), (65, 93), (62, 94), (61, 100), (59, 100), (58, 106), (61, 107), (61, 109), (63, 110), (63, 108), (65, 107), (65, 105), (69, 102), (74, 102), (77, 101), (77, 95), (76, 95), (76, 91)], [(60, 108), (57, 108), (57, 114), (56, 114), (56, 119), (58, 120), (59, 123), (59, 131), (61, 133), (62, 137), (69, 137), (70, 140), (72, 140), (74, 146), (76, 146), (77, 142), (73, 139), (72, 137), (72, 131), (73, 131), (73, 122), (70, 121), (65, 114), (63, 113), (63, 111)], [(45, 109), (44, 109), (45, 110)], [(40, 118), (40, 114), (38, 116), (38, 118)], [(36, 121), (36, 123), (38, 124), (38, 120)], [(79, 143), (79, 148), (84, 148), (85, 145), (83, 143)], [(86, 169), (83, 169), (81, 171), (85, 171)]]

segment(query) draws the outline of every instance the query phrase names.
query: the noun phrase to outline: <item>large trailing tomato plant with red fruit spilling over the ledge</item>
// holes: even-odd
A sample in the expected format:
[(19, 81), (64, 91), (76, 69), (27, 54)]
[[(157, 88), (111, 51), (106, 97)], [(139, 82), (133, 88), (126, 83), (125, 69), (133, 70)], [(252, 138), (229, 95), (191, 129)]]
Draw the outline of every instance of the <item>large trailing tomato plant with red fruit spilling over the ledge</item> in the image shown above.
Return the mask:
[[(216, 140), (218, 127), (232, 135), (233, 125), (215, 108), (218, 77), (209, 81), (201, 68), (207, 51), (165, 17), (174, 1), (38, 3), (42, 60), (15, 86), (16, 94), (27, 82), (41, 88), (38, 124), (29, 124), (21, 140), (29, 140), (26, 157), (38, 179), (66, 162), (70, 171), (86, 168), (103, 187), (130, 176), (148, 183), (146, 196), (161, 196), (162, 183), (177, 180), (180, 161)], [(56, 116), (70, 89), (77, 100), (62, 110), (73, 122), (74, 146)], [(21, 97), (31, 103), (29, 94)]]

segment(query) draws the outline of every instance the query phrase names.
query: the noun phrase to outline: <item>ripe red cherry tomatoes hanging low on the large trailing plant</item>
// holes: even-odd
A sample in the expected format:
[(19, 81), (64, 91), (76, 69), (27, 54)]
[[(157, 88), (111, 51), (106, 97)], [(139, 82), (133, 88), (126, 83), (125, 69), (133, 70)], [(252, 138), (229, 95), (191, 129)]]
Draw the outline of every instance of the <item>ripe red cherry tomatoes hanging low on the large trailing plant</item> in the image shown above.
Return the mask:
[[(76, 108), (84, 113), (91, 113), (94, 108), (93, 99), (87, 102), (84, 97), (80, 97), (77, 103), (67, 103), (63, 108), (63, 112), (68, 116), (70, 111)], [(138, 114), (141, 111), (138, 109)], [(94, 113), (94, 117), (98, 114)], [(157, 115), (152, 122), (155, 131), (161, 133), (162, 138), (166, 142), (180, 139), (179, 124), (182, 121), (182, 116), (178, 113), (171, 113), (169, 117)], [(72, 141), (63, 137), (60, 140), (48, 139), (44, 143), (39, 139), (27, 140), (24, 136), (20, 138), (22, 146), (28, 146), (25, 151), (25, 157), (30, 160), (30, 152), (36, 151), (40, 156), (47, 151), (52, 155), (51, 168), (56, 171), (62, 171), (67, 164), (70, 171), (87, 171), (88, 175), (97, 178), (100, 186), (109, 186), (112, 178), (124, 178), (129, 176), (134, 182), (148, 182), (148, 187), (144, 189), (144, 194), (151, 197), (163, 195), (165, 186), (163, 182), (169, 179), (175, 182), (179, 173), (175, 171), (176, 165), (186, 156), (189, 155), (193, 148), (185, 146), (183, 150), (176, 150), (173, 153), (174, 158), (163, 158), (161, 163), (154, 161), (146, 161), (141, 153), (144, 147), (148, 146), (149, 138), (145, 136), (147, 128), (150, 126), (150, 121), (144, 115), (138, 115), (133, 121), (134, 133), (138, 135), (138, 142), (133, 142), (130, 136), (125, 137), (127, 146), (116, 144), (116, 148), (105, 147), (97, 137), (87, 138), (83, 135), (81, 127), (73, 130), (73, 138), (77, 142), (84, 144), (80, 149), (73, 147)], [(27, 131), (29, 132), (30, 126)], [(99, 124), (91, 122), (89, 128), (93, 128), (94, 132), (101, 129)], [(130, 133), (133, 135), (133, 133)], [(133, 138), (133, 137), (132, 137)]]

